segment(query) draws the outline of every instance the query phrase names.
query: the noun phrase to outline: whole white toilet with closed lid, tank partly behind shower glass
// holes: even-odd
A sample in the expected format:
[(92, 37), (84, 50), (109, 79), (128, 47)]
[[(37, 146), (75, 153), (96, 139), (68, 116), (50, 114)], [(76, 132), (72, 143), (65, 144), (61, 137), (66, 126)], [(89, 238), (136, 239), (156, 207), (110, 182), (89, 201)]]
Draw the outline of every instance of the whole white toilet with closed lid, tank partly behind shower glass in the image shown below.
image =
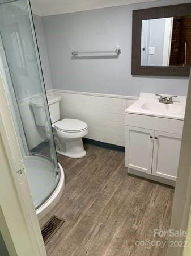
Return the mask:
[[(54, 141), (56, 151), (68, 156), (69, 158), (82, 158), (86, 155), (83, 147), (82, 138), (88, 133), (87, 124), (78, 119), (64, 118), (60, 120), (60, 101), (61, 96), (49, 94), (47, 96), (50, 118), (53, 127)], [(35, 121), (38, 126), (45, 126), (44, 120), (41, 118), (44, 112), (44, 105), (37, 100), (31, 103), (33, 108), (36, 108)]]

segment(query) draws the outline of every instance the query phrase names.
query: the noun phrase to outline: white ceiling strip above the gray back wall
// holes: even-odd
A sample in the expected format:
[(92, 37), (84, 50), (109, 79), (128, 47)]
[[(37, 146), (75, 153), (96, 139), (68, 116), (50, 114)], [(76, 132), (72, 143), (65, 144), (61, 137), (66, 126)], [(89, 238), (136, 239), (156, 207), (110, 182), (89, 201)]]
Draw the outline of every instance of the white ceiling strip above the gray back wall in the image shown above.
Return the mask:
[(33, 13), (48, 16), (157, 0), (31, 0)]

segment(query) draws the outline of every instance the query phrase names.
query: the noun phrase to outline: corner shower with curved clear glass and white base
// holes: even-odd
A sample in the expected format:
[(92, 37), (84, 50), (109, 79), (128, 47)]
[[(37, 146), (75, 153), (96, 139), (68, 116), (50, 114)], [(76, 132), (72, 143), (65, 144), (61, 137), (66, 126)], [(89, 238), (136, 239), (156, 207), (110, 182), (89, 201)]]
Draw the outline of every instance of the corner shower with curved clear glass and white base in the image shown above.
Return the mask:
[[(58, 163), (43, 73), (28, 0), (0, 0), (0, 72), (39, 218), (60, 199), (64, 172)], [(36, 123), (31, 104), (44, 106)]]

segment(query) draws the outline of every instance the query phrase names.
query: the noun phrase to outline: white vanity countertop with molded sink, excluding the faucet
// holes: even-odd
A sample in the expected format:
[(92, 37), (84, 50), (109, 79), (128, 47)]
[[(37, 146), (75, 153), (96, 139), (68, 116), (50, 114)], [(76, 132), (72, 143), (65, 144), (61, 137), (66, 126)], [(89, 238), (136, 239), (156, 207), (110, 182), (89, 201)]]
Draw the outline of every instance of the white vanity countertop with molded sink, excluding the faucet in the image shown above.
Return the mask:
[[(173, 95), (162, 94), (162, 96), (169, 98)], [(185, 106), (185, 96), (173, 98), (173, 104), (164, 104), (159, 103), (159, 96), (155, 94), (140, 93), (139, 100), (129, 106), (125, 113), (184, 120)]]

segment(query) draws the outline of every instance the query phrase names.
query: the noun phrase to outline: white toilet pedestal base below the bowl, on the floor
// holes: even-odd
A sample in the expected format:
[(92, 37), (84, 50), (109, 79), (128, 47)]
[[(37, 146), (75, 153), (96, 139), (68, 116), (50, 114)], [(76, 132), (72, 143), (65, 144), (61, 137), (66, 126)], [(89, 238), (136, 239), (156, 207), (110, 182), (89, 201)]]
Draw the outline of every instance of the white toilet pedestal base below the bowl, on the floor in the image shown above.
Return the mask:
[(86, 151), (83, 147), (82, 139), (78, 139), (75, 141), (66, 141), (62, 143), (65, 144), (65, 150), (62, 150), (60, 147), (59, 150), (57, 148), (57, 153), (67, 156), (68, 158), (83, 158), (86, 155)]

